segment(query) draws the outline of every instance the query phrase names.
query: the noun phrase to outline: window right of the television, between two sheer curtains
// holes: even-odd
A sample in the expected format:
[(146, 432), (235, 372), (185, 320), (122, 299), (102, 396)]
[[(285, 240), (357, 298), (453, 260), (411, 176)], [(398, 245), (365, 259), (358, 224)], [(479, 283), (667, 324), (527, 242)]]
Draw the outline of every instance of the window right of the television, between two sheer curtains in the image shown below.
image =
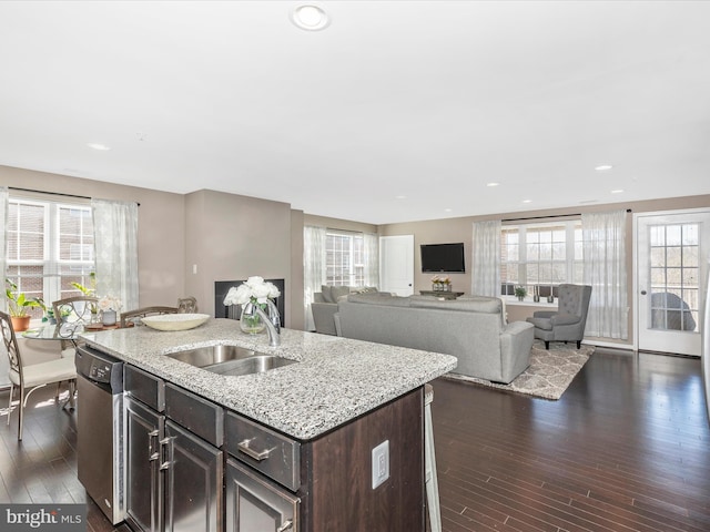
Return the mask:
[[(521, 285), (540, 295), (561, 283), (582, 282), (581, 221), (505, 226), (500, 232), (501, 294)], [(554, 288), (552, 288), (554, 289)]]

